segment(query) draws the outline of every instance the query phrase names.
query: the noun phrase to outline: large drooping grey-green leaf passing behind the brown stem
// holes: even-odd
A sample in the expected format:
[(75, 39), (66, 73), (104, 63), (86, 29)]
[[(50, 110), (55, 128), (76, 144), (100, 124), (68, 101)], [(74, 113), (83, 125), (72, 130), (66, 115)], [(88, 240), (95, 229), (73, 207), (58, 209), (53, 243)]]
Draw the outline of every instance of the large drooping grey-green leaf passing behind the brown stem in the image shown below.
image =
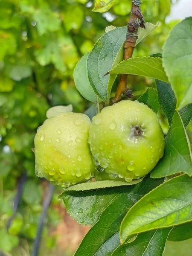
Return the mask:
[[(142, 28), (139, 28), (137, 44), (156, 27), (151, 23), (146, 23), (145, 33), (143, 33)], [(105, 102), (109, 98), (116, 73), (112, 76), (105, 76), (105, 74), (122, 61), (122, 45), (125, 42), (126, 32), (127, 27), (120, 27), (105, 33), (96, 42), (87, 58), (87, 73), (90, 84), (94, 92)]]

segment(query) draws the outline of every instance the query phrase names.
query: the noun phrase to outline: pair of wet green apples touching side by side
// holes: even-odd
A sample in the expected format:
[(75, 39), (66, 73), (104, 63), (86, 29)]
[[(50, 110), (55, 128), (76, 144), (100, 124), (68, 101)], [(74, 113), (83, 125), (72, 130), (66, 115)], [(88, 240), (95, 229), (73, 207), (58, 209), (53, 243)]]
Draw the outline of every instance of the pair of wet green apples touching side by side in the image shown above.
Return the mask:
[(66, 187), (91, 177), (130, 182), (154, 168), (164, 145), (154, 111), (123, 100), (103, 108), (93, 122), (73, 112), (47, 119), (35, 136), (35, 170)]

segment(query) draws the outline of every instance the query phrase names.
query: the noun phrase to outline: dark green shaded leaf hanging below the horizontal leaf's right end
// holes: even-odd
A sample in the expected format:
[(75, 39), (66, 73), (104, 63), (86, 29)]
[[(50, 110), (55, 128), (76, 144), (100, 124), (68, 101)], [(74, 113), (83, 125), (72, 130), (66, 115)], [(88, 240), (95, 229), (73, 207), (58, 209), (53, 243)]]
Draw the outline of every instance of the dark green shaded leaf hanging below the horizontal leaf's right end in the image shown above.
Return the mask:
[(172, 123), (173, 114), (176, 108), (176, 97), (171, 84), (156, 80), (159, 104), (168, 118), (169, 125)]

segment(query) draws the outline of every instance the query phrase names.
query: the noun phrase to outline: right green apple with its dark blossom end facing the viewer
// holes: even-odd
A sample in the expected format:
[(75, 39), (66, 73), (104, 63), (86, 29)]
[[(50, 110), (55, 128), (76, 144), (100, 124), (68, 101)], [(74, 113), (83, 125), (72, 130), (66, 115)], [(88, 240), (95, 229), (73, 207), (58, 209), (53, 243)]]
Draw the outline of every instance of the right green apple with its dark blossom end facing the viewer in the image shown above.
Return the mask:
[(123, 100), (93, 117), (89, 136), (96, 165), (110, 179), (148, 174), (163, 157), (164, 135), (156, 114), (138, 101)]

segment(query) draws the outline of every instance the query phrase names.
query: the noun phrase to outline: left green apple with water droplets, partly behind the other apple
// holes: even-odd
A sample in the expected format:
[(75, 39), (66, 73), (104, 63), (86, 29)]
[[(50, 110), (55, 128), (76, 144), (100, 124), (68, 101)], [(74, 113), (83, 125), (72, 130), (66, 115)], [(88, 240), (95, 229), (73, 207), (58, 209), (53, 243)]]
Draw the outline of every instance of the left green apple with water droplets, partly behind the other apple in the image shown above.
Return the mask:
[(36, 174), (63, 186), (89, 180), (95, 170), (87, 142), (90, 124), (81, 113), (47, 119), (34, 140)]

